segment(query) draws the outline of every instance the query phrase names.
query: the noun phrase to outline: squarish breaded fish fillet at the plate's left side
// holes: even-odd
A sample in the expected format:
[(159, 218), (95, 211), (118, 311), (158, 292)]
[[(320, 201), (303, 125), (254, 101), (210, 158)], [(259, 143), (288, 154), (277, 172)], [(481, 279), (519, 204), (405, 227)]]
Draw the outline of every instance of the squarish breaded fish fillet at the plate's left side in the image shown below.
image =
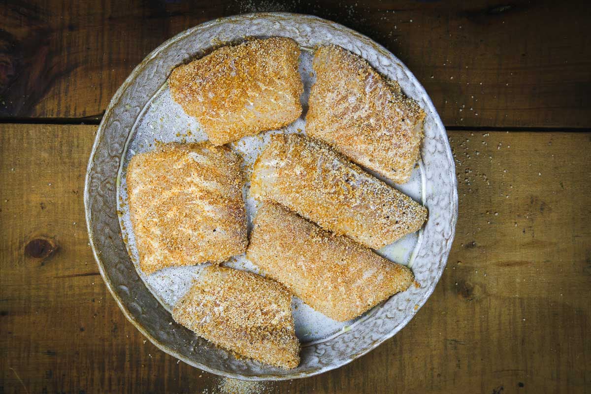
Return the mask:
[(135, 155), (127, 169), (139, 266), (222, 262), (244, 252), (241, 161), (225, 146), (167, 144)]

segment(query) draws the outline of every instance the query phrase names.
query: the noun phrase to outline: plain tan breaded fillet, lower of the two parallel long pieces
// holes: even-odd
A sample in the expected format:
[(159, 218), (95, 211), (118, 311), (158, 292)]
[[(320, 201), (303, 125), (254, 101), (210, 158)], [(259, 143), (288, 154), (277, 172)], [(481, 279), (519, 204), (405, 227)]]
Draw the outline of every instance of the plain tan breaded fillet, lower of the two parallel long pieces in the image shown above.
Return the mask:
[(414, 280), (407, 267), (275, 203), (258, 210), (246, 256), (310, 307), (338, 321), (358, 317)]

